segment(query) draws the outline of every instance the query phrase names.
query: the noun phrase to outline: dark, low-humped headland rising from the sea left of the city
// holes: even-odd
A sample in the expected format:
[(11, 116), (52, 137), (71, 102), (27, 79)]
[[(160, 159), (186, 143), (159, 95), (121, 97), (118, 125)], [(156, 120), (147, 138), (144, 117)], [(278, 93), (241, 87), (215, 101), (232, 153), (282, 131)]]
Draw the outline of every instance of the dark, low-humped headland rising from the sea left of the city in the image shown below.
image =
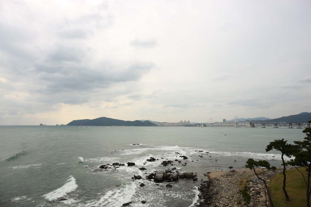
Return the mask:
[(66, 124), (67, 126), (155, 126), (150, 121), (124, 121), (119, 119), (111, 119), (107, 117), (100, 117), (97, 119), (81, 119), (73, 120)]

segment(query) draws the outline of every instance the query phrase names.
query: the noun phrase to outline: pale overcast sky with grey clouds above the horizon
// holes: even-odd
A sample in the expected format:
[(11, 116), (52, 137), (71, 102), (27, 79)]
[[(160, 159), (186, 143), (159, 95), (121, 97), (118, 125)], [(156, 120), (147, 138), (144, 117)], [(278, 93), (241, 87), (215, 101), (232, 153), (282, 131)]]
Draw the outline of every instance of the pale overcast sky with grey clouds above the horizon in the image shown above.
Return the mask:
[(311, 111), (311, 1), (0, 1), (0, 125)]

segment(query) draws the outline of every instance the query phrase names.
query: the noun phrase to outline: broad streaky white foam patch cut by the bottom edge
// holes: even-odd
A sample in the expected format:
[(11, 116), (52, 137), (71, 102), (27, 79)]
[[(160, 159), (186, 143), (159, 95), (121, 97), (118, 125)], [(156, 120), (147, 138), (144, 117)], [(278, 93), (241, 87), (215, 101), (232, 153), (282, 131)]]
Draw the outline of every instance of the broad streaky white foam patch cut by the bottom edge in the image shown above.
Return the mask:
[(122, 204), (127, 203), (132, 199), (132, 196), (135, 194), (136, 188), (136, 184), (132, 182), (130, 185), (126, 185), (124, 188), (117, 188), (107, 191), (104, 196), (102, 196), (99, 200), (92, 200), (90, 203), (84, 206), (122, 206)]

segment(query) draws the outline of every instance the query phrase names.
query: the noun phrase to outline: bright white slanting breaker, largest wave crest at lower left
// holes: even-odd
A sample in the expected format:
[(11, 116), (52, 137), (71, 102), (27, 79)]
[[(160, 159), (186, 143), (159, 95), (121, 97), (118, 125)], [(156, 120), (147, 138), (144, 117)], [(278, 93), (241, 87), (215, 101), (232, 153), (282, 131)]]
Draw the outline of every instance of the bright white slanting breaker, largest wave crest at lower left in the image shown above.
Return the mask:
[(57, 200), (60, 197), (66, 196), (67, 193), (76, 190), (77, 187), (78, 185), (76, 183), (76, 179), (71, 175), (62, 187), (48, 194), (45, 194), (44, 197), (49, 201)]

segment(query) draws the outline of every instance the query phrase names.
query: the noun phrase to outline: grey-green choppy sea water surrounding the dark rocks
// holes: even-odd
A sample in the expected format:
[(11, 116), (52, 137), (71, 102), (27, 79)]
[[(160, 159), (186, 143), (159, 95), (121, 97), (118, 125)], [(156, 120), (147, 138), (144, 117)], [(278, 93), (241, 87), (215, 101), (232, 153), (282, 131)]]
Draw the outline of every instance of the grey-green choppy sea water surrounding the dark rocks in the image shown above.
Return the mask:
[[(206, 179), (203, 173), (229, 166), (241, 169), (248, 158), (280, 166), (280, 154), (266, 152), (265, 147), (281, 138), (291, 143), (302, 140), (304, 133), (285, 127), (0, 126), (0, 206), (119, 207), (129, 201), (131, 206), (193, 206), (197, 186)], [(159, 160), (144, 165), (151, 156)], [(163, 167), (164, 159), (182, 162)], [(136, 165), (93, 172), (113, 162)], [(157, 186), (153, 181), (131, 179), (134, 174), (144, 178), (170, 167), (197, 173), (198, 181), (179, 179), (166, 188), (166, 182)], [(140, 182), (145, 186), (140, 187)]]

